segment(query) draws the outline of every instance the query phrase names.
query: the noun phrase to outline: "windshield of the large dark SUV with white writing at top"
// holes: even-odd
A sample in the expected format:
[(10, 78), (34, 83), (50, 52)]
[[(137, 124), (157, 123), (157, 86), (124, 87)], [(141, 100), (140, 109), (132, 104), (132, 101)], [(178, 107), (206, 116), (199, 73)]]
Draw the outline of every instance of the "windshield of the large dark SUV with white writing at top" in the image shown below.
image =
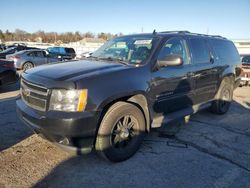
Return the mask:
[(152, 36), (126, 36), (112, 39), (90, 57), (119, 60), (128, 64), (144, 64), (153, 49)]

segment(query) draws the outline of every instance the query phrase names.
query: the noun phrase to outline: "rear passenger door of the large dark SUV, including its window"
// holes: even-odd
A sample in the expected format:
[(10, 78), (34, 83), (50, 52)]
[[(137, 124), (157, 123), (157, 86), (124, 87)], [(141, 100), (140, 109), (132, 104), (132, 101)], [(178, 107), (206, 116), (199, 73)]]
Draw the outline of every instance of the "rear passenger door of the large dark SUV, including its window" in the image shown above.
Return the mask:
[(192, 37), (189, 38), (188, 43), (194, 65), (194, 104), (199, 104), (212, 99), (215, 95), (219, 80), (218, 65), (205, 38)]

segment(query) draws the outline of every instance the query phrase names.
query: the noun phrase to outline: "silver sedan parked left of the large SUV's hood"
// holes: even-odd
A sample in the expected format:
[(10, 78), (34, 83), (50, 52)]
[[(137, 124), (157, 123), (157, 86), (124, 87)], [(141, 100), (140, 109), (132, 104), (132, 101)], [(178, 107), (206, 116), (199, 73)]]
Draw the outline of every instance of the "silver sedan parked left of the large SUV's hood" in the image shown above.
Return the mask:
[(16, 69), (21, 70), (27, 70), (47, 63), (59, 62), (61, 60), (60, 57), (39, 49), (23, 50), (15, 54), (7, 55), (6, 59), (14, 61)]

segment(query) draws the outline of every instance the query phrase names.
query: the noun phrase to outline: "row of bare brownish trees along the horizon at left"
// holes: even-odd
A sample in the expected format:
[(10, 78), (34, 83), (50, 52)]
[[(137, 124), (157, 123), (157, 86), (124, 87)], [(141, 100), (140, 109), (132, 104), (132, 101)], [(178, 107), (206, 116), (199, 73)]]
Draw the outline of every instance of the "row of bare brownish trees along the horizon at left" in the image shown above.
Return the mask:
[(14, 32), (10, 32), (6, 30), (3, 32), (0, 29), (0, 40), (2, 42), (7, 41), (30, 41), (30, 42), (45, 42), (45, 43), (57, 43), (58, 41), (63, 43), (76, 42), (83, 38), (100, 38), (104, 40), (109, 40), (116, 36), (121, 36), (122, 33), (111, 34), (111, 33), (98, 33), (94, 34), (92, 32), (81, 33), (79, 31), (76, 32), (45, 32), (39, 30), (34, 33), (29, 33), (21, 29), (16, 29)]

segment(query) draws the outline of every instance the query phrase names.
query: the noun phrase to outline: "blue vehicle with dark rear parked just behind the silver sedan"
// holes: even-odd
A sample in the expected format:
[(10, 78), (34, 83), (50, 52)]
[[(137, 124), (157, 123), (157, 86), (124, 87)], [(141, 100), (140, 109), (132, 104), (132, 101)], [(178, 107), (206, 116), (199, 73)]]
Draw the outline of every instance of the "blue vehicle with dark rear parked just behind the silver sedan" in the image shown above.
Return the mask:
[(74, 48), (65, 47), (49, 47), (48, 52), (60, 56), (62, 60), (71, 60), (76, 57), (76, 52)]

